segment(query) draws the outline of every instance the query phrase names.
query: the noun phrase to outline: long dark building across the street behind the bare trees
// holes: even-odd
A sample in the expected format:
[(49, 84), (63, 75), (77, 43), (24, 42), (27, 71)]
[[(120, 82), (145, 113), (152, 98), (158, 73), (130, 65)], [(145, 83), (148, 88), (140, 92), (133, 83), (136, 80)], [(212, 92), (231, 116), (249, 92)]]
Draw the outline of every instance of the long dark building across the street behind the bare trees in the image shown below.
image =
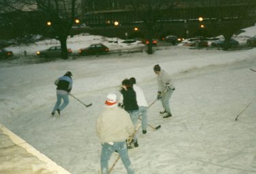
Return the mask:
[[(145, 5), (142, 2), (136, 5), (146, 8), (147, 4)], [(187, 38), (202, 33), (208, 36), (218, 35), (215, 32), (218, 30), (214, 30), (214, 27), (221, 25), (224, 20), (233, 23), (234, 19), (238, 18), (243, 18), (244, 22), (246, 21), (244, 26), (250, 26), (255, 23), (255, 4), (254, 0), (184, 0), (162, 5), (158, 11), (152, 14), (154, 37), (179, 35)], [(145, 18), (138, 15), (130, 1), (81, 0), (81, 5), (82, 14), (80, 17), (87, 27), (91, 27), (90, 33), (105, 33), (110, 37), (118, 34), (120, 38), (127, 38), (127, 35), (135, 38), (139, 35), (141, 37), (147, 35), (145, 34), (147, 32)], [(198, 20), (199, 17), (203, 17), (203, 22)], [(119, 22), (118, 32), (113, 32), (113, 29), (117, 27), (114, 25), (115, 21)], [(134, 27), (137, 27), (140, 31), (134, 31)]]

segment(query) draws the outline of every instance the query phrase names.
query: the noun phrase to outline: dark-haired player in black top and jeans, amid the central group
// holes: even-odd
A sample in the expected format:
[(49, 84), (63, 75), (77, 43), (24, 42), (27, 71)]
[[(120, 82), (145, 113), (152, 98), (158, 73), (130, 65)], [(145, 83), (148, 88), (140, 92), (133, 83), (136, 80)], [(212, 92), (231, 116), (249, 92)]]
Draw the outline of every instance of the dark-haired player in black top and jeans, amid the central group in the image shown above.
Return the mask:
[[(129, 113), (132, 123), (134, 124), (134, 126), (136, 126), (139, 119), (139, 106), (137, 104), (136, 92), (132, 88), (132, 83), (130, 80), (124, 79), (124, 81), (122, 81), (122, 89), (120, 90), (120, 92), (123, 95), (124, 110)], [(134, 147), (139, 146), (136, 138), (133, 144)]]

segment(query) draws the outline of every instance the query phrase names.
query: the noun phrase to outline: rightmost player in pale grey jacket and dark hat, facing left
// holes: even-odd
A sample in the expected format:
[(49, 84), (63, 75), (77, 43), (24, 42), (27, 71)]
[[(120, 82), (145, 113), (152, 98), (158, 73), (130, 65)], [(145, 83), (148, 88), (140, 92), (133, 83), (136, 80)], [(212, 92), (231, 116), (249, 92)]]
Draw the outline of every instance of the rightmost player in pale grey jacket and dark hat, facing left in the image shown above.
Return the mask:
[(160, 112), (160, 114), (165, 114), (163, 118), (169, 118), (171, 117), (171, 109), (169, 100), (171, 98), (171, 94), (175, 90), (175, 87), (173, 85), (173, 81), (171, 79), (171, 76), (165, 72), (165, 70), (161, 70), (159, 65), (154, 66), (154, 72), (157, 74), (157, 81), (158, 81), (158, 96), (157, 99), (161, 100), (162, 107), (165, 108), (165, 111)]

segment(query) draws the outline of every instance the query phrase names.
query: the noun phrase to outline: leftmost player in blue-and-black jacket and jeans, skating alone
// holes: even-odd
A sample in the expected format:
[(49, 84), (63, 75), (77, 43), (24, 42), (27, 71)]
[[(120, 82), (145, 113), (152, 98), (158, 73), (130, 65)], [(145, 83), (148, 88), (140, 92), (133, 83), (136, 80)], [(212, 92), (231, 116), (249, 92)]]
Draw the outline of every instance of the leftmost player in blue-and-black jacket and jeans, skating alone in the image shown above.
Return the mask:
[[(57, 111), (60, 115), (61, 110), (63, 110), (63, 108), (65, 108), (68, 105), (68, 94), (72, 89), (73, 83), (71, 76), (72, 73), (68, 71), (66, 72), (66, 74), (64, 74), (64, 76), (59, 77), (55, 81), (55, 85), (57, 85), (57, 102), (53, 108), (51, 115), (55, 115), (55, 111)], [(61, 99), (63, 99), (64, 101), (63, 104), (61, 104)]]

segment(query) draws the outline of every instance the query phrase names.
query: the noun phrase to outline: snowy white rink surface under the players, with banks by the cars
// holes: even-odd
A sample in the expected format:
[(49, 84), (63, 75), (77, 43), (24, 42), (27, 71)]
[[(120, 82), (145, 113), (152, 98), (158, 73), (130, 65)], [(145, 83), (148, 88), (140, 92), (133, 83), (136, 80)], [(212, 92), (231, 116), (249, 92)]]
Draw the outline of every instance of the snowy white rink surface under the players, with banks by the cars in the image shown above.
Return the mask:
[[(255, 26), (246, 29), (248, 33), (253, 31), (256, 32)], [(246, 35), (242, 34), (241, 38)], [(111, 38), (74, 36), (69, 38), (68, 47), (78, 50), (93, 42), (104, 42), (117, 50), (131, 48), (106, 40)], [(9, 48), (14, 54), (23, 50), (35, 53), (53, 44), (57, 42), (48, 40), (29, 47)], [(132, 48), (136, 47), (135, 44)], [(106, 95), (115, 92), (119, 96), (122, 80), (134, 76), (151, 104), (157, 94), (153, 67), (159, 63), (175, 79), (176, 90), (170, 102), (173, 117), (160, 117), (160, 102), (149, 108), (148, 123), (160, 124), (161, 128), (154, 131), (148, 127), (145, 136), (139, 131), (139, 147), (129, 151), (136, 173), (253, 174), (256, 173), (256, 74), (249, 68), (256, 70), (255, 55), (256, 48), (223, 51), (165, 46), (157, 48), (154, 55), (111, 54), (31, 64), (24, 57), (1, 61), (0, 123), (70, 173), (98, 173), (101, 145), (95, 125)], [(70, 96), (70, 104), (61, 116), (51, 117), (56, 102), (53, 82), (66, 71), (73, 74), (72, 94), (93, 105), (86, 108)], [(16, 151), (10, 149), (8, 153)], [(109, 165), (115, 158), (113, 154)], [(4, 158), (0, 158), (0, 173), (1, 160)], [(30, 165), (34, 166), (31, 173), (35, 173), (36, 165), (26, 161), (20, 162), (20, 173), (25, 173), (24, 168)], [(113, 174), (117, 173), (126, 173), (121, 161), (113, 170)]]

